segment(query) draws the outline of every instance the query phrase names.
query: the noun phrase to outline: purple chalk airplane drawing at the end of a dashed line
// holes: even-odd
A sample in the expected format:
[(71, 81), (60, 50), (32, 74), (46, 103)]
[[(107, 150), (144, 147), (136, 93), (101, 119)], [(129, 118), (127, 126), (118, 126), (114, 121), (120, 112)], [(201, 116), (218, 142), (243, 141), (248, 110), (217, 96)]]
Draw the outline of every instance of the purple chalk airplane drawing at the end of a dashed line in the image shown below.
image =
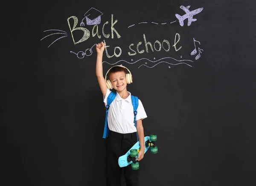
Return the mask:
[(180, 26), (183, 26), (183, 25), (184, 25), (183, 21), (184, 21), (186, 18), (188, 19), (188, 26), (190, 26), (191, 23), (192, 23), (192, 21), (196, 21), (196, 19), (193, 19), (193, 15), (196, 15), (196, 14), (202, 12), (202, 10), (204, 9), (204, 8), (199, 8), (199, 9), (195, 9), (195, 10), (193, 10), (193, 11), (190, 12), (189, 7), (190, 7), (190, 5), (187, 6), (187, 7), (185, 7), (185, 6), (180, 6), (180, 9), (183, 9), (183, 11), (186, 12), (185, 15), (180, 16), (180, 15), (178, 15), (178, 14), (175, 14), (175, 16), (177, 17), (177, 19), (178, 19), (179, 22), (180, 22)]

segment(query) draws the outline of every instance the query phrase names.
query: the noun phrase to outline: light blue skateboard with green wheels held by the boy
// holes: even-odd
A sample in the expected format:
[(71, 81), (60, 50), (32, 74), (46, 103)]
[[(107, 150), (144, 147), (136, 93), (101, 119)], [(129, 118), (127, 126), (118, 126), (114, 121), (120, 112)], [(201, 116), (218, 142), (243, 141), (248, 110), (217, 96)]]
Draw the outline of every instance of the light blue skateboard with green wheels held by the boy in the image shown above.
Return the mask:
[[(144, 142), (145, 142), (145, 151), (150, 148), (150, 151), (152, 154), (156, 154), (158, 152), (157, 146), (155, 146), (155, 141), (157, 140), (157, 135), (151, 134), (150, 136), (145, 136), (144, 137)], [(138, 152), (140, 151), (140, 143), (137, 141), (129, 151), (126, 152), (126, 154), (120, 156), (118, 158), (118, 165), (119, 167), (125, 167), (131, 164), (131, 169), (137, 170), (140, 168), (139, 162), (136, 160), (138, 157)]]

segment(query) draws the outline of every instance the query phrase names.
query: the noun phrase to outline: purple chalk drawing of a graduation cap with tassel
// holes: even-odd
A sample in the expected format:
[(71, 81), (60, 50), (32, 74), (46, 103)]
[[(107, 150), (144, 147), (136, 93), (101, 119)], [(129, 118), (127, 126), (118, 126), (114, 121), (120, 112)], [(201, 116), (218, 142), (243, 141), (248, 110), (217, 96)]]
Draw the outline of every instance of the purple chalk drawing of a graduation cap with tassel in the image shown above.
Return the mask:
[[(102, 12), (100, 12), (97, 9), (90, 8), (85, 14), (84, 18), (86, 18), (86, 24), (87, 25), (96, 25), (100, 23), (100, 18), (103, 15)], [(82, 19), (80, 26), (84, 26), (84, 18)]]

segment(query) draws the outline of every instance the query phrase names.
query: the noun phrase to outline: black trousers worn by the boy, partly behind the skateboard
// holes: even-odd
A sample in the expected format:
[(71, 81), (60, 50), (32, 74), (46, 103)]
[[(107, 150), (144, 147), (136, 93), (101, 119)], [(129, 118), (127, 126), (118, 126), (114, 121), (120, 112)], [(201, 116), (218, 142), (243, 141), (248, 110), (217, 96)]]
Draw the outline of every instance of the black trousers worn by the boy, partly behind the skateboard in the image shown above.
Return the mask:
[(122, 171), (124, 171), (126, 186), (138, 186), (138, 170), (132, 170), (131, 165), (120, 168), (118, 158), (124, 155), (137, 142), (137, 134), (120, 134), (109, 131), (107, 137), (107, 186), (121, 186)]

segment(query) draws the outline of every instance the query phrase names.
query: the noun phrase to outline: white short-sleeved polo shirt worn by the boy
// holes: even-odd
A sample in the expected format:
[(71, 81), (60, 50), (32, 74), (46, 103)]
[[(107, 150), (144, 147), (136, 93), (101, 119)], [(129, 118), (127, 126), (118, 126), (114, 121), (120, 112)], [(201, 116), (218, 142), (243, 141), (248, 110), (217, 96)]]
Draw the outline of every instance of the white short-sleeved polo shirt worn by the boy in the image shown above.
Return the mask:
[[(108, 95), (111, 90), (107, 89), (107, 93), (103, 102), (105, 106), (108, 105)], [(121, 134), (133, 133), (137, 129), (134, 126), (134, 110), (131, 102), (131, 93), (126, 99), (122, 99), (119, 93), (116, 92), (116, 98), (111, 103), (108, 110), (108, 128), (111, 131)], [(142, 102), (139, 99), (139, 105), (137, 108), (136, 121), (139, 119), (145, 119), (147, 117)]]

